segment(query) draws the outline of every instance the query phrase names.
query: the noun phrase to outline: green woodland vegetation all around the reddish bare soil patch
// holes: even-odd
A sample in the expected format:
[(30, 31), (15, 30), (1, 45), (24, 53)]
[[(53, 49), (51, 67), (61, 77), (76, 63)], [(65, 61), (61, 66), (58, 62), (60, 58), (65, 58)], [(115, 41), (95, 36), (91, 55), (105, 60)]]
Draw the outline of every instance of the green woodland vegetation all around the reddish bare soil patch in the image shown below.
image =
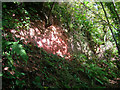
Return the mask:
[[(105, 23), (107, 21), (102, 22), (106, 17), (101, 9), (104, 7), (100, 3), (55, 3), (54, 9), (51, 10), (52, 5), (52, 2), (3, 3), (3, 88), (120, 87), (120, 60), (117, 47), (120, 44), (119, 31), (112, 27), (119, 26), (115, 23), (119, 22), (118, 17), (114, 17), (115, 13), (113, 15), (107, 11), (111, 15), (110, 24)], [(89, 5), (92, 6), (91, 9)], [(94, 5), (97, 5), (98, 10), (95, 10)], [(111, 11), (111, 4), (105, 5), (108, 7), (105, 8)], [(40, 6), (41, 11), (36, 9)], [(119, 7), (120, 5), (116, 4), (116, 8)], [(32, 43), (25, 44), (24, 40), (10, 33), (11, 29), (29, 30), (31, 21), (45, 20), (46, 16), (43, 15), (46, 13), (49, 17), (49, 11), (53, 19), (56, 17), (61, 22), (60, 27), (64, 31), (67, 29), (65, 33), (68, 35), (69, 48), (72, 48), (70, 60), (47, 53)], [(115, 33), (115, 36), (113, 35), (115, 39), (112, 37), (113, 33), (109, 31), (109, 26)]]

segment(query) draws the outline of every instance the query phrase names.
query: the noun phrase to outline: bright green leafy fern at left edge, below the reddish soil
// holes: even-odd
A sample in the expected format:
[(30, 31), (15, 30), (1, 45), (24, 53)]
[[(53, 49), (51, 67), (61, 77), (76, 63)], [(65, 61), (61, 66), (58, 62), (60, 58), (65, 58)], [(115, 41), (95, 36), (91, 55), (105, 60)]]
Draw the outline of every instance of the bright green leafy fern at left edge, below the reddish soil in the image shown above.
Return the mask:
[[(18, 43), (19, 42), (10, 42), (10, 41), (6, 41), (4, 39), (2, 41), (2, 44), (3, 44), (2, 49), (6, 50), (6, 51), (3, 51), (3, 55), (7, 55), (7, 57), (12, 62), (12, 64), (13, 64), (12, 55), (20, 56), (26, 62), (28, 60), (26, 51), (24, 50), (23, 46), (21, 44), (18, 44)], [(10, 50), (10, 49), (12, 49), (12, 50)]]

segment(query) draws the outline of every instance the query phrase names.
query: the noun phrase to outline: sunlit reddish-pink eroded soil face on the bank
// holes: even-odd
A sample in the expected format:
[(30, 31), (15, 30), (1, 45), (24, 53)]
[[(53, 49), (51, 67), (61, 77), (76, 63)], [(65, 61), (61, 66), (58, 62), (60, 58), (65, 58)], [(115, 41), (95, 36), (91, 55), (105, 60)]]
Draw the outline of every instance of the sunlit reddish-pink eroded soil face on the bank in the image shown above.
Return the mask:
[[(43, 48), (48, 53), (57, 54), (58, 56), (65, 57), (65, 59), (70, 58), (67, 42), (68, 37), (62, 28), (57, 25), (51, 25), (45, 28), (44, 21), (37, 20), (31, 22), (28, 30), (20, 28), (19, 31), (11, 29), (10, 32), (14, 37), (23, 40), (23, 43), (26, 45), (31, 43), (34, 46), (37, 45)], [(17, 41), (15, 38), (14, 40)]]

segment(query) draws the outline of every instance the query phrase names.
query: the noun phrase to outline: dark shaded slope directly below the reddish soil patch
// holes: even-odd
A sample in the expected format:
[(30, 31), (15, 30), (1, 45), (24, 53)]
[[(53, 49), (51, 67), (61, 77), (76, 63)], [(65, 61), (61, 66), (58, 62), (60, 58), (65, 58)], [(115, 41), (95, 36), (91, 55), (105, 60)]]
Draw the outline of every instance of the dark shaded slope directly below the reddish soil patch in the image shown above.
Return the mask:
[(3, 57), (4, 88), (91, 87), (91, 80), (81, 71), (84, 68), (76, 60), (69, 62), (38, 47), (26, 47), (29, 59), (26, 63), (13, 55), (12, 68), (15, 69), (11, 69), (8, 59)]

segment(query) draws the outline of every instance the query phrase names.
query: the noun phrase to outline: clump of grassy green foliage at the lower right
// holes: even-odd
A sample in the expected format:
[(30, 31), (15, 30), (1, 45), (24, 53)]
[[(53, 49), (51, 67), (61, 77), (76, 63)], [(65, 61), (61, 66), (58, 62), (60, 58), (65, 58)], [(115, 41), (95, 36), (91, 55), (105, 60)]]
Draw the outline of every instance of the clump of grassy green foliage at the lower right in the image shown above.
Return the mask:
[(86, 73), (86, 75), (92, 81), (91, 84), (93, 86), (95, 84), (93, 82), (105, 85), (106, 83), (109, 83), (109, 79), (114, 79), (118, 75), (117, 72), (115, 72), (117, 68), (113, 61), (107, 62), (106, 60), (101, 60), (94, 62), (94, 60), (86, 59), (86, 57), (82, 54), (76, 58), (79, 60), (83, 67), (83, 69), (81, 68), (80, 71)]

